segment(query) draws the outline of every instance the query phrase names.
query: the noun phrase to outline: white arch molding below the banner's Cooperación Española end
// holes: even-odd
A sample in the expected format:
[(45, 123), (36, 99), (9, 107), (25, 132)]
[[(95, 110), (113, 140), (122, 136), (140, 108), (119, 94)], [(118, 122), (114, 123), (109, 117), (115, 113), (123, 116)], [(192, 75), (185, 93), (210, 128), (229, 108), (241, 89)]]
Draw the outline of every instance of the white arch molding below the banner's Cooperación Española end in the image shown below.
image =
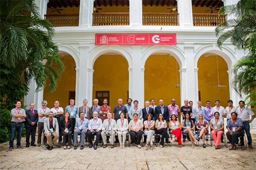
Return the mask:
[[(142, 68), (145, 67), (145, 63), (146, 63), (147, 59), (152, 54), (158, 53), (158, 52), (171, 54), (178, 61), (180, 68), (182, 68), (184, 66), (185, 57), (180, 49), (178, 49), (177, 47), (171, 46), (171, 45), (164, 45), (164, 46), (161, 46), (161, 48), (159, 48), (159, 47), (160, 46), (155, 45), (155, 46), (149, 47), (144, 52), (144, 54), (142, 56), (142, 61), (141, 61)], [(184, 64), (182, 64), (182, 63), (184, 63)]]

